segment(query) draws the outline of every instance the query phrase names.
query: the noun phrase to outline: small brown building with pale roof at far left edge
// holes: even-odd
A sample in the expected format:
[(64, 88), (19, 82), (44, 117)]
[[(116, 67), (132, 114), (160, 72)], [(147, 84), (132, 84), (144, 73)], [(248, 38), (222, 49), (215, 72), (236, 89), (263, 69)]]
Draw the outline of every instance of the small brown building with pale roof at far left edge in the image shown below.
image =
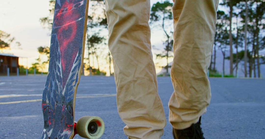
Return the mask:
[(9, 68), (10, 73), (16, 73), (19, 57), (13, 54), (0, 53), (0, 74), (6, 74), (7, 68)]

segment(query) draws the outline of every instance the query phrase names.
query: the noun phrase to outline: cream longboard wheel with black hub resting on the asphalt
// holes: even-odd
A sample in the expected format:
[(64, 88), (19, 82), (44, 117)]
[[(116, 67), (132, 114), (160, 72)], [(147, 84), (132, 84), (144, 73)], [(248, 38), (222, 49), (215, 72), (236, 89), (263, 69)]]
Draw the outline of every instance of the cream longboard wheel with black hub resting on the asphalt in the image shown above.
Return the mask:
[(83, 116), (77, 121), (76, 130), (81, 137), (99, 139), (104, 133), (105, 125), (97, 116)]

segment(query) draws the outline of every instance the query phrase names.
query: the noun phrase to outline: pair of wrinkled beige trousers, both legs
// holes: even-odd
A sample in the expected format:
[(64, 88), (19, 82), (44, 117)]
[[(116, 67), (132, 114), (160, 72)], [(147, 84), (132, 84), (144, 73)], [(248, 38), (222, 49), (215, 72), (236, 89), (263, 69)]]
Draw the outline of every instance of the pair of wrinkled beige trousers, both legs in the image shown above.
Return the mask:
[[(159, 139), (166, 125), (158, 96), (150, 42), (150, 0), (105, 0), (113, 56), (117, 107), (130, 139)], [(174, 60), (169, 121), (175, 129), (196, 123), (206, 112), (207, 78), (218, 0), (175, 0)]]

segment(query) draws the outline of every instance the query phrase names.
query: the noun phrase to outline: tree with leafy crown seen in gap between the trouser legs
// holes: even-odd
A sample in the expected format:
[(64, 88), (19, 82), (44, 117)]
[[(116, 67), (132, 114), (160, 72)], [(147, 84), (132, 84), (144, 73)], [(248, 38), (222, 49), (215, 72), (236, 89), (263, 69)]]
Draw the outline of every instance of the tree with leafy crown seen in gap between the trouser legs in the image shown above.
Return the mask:
[(167, 38), (167, 40), (165, 41), (165, 51), (161, 54), (157, 54), (157, 57), (166, 57), (167, 60), (167, 65), (166, 65), (166, 72), (168, 73), (168, 58), (172, 57), (169, 55), (169, 52), (172, 51), (173, 48), (173, 40), (170, 39), (171, 36), (173, 35), (173, 31), (170, 28), (170, 25), (166, 24), (166, 21), (170, 21), (173, 19), (173, 15), (172, 15), (172, 6), (173, 4), (169, 1), (165, 1), (163, 3), (157, 2), (155, 3), (152, 8), (151, 8), (151, 14), (150, 14), (150, 20), (151, 23), (153, 22), (161, 22), (162, 21), (162, 25), (158, 24), (157, 26), (162, 26), (162, 29), (165, 33), (165, 36)]

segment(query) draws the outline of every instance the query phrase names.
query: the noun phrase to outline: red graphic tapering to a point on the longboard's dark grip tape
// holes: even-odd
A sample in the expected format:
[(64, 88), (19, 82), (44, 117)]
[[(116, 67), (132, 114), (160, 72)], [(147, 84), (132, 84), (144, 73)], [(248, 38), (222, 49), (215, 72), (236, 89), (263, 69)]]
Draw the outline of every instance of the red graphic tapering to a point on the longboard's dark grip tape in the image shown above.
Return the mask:
[[(60, 44), (63, 88), (65, 87), (65, 83), (69, 77), (73, 62), (78, 53), (79, 45), (77, 46), (75, 44), (82, 43), (78, 42), (80, 41), (79, 38), (82, 38), (82, 36), (77, 35), (77, 27), (83, 15), (76, 9), (82, 6), (84, 3), (83, 1), (81, 1), (73, 4), (73, 2), (74, 0), (69, 0), (69, 2), (65, 1), (61, 5), (61, 7), (63, 8), (55, 11), (53, 27), (58, 28), (56, 34), (58, 37), (58, 42)], [(72, 51), (69, 52), (67, 51), (68, 49), (71, 49)]]

